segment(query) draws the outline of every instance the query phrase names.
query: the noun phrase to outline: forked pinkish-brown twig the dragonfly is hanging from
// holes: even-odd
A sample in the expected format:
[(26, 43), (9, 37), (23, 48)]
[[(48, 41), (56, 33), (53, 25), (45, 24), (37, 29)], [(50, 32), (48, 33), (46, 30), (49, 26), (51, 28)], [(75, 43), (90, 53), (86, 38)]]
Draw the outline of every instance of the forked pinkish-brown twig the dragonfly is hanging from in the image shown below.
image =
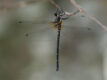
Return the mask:
[[(49, 0), (49, 1), (50, 1), (57, 9), (62, 10), (62, 9), (60, 8), (60, 6), (57, 5), (53, 0)], [(82, 9), (82, 7), (81, 7), (75, 0), (70, 0), (70, 2), (71, 2), (75, 7), (77, 7), (78, 10), (75, 11), (75, 12), (73, 12), (73, 13), (72, 13), (72, 12), (64, 11), (64, 13), (65, 13), (66, 15), (74, 16), (74, 15), (76, 15), (77, 13), (81, 12), (81, 13), (87, 15), (90, 19), (92, 19), (93, 21), (95, 21), (95, 22), (96, 22), (97, 24), (99, 24), (104, 30), (107, 31), (107, 27), (106, 27), (102, 22), (100, 22), (100, 21), (99, 21), (98, 19), (96, 19), (94, 16), (92, 16), (91, 14), (89, 14), (88, 12), (86, 12), (84, 9)]]

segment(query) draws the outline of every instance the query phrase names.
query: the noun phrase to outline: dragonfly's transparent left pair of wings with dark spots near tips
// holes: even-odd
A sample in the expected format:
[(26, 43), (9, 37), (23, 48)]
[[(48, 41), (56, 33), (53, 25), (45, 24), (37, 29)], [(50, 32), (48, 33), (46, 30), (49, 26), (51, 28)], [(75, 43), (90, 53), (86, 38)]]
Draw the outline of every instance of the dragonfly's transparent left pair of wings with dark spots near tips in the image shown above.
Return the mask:
[[(26, 37), (40, 34), (41, 32), (57, 30), (57, 28), (54, 29), (56, 26), (51, 21), (17, 21), (17, 24), (18, 26), (24, 27), (24, 29), (26, 29), (24, 33), (24, 36)], [(67, 26), (67, 24), (62, 26)]]

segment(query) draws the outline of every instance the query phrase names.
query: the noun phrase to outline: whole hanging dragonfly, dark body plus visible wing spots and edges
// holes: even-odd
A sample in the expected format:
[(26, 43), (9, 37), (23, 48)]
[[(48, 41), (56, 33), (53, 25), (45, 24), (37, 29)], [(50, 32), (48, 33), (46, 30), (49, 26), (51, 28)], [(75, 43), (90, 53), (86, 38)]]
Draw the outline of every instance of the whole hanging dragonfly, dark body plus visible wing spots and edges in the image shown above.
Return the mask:
[[(62, 23), (64, 20), (69, 19), (68, 15), (65, 15), (63, 10), (56, 10), (56, 12), (54, 13), (55, 16), (55, 20), (52, 22), (48, 22), (49, 26), (52, 26), (55, 30), (57, 30), (57, 43), (56, 43), (56, 71), (59, 71), (59, 54), (60, 54), (60, 34), (61, 34), (61, 30), (63, 29), (62, 27)], [(84, 17), (84, 16), (81, 16)], [(19, 24), (24, 24), (24, 23), (28, 23), (28, 22), (24, 22), (24, 21), (18, 21)], [(47, 22), (41, 22), (41, 23), (31, 23), (31, 24), (46, 24)], [(47, 25), (48, 25), (47, 24)], [(50, 29), (50, 27), (49, 27)], [(90, 28), (88, 28), (88, 30), (90, 30)], [(31, 34), (35, 33), (34, 32), (29, 32), (29, 33), (25, 33), (26, 37), (29, 37)]]

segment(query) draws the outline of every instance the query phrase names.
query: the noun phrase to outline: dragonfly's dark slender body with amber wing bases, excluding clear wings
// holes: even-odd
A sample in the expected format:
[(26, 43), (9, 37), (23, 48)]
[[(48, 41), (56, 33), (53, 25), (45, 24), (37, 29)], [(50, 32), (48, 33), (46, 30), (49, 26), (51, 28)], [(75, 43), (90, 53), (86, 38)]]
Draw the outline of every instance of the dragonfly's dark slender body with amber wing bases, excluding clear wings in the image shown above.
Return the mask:
[(60, 44), (60, 31), (62, 29), (62, 20), (66, 20), (68, 19), (68, 17), (66, 18), (62, 18), (62, 16), (64, 15), (63, 11), (58, 10), (56, 11), (56, 13), (54, 14), (56, 16), (55, 21), (50, 22), (51, 25), (53, 25), (53, 27), (55, 29), (57, 29), (58, 31), (58, 35), (57, 35), (57, 50), (56, 50), (56, 71), (59, 71), (59, 44)]

